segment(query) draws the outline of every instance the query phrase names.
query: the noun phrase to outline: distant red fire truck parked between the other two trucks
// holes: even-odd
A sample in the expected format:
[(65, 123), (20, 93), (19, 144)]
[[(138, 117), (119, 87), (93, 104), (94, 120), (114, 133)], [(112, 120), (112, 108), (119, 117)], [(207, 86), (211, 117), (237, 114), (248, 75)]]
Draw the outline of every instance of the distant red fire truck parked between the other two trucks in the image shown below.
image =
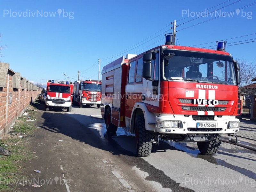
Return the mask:
[(73, 99), (80, 108), (83, 105), (97, 105), (100, 108), (101, 82), (96, 80), (75, 81)]

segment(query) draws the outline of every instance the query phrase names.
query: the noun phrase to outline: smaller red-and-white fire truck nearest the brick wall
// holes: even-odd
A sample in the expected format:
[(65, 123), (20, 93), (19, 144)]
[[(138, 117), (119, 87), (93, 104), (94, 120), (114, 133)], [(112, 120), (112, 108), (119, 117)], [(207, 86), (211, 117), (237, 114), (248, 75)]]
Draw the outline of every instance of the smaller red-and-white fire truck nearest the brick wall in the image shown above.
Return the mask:
[(49, 108), (66, 108), (68, 112), (71, 112), (73, 92), (72, 82), (48, 80), (46, 91), (46, 111), (49, 111)]

